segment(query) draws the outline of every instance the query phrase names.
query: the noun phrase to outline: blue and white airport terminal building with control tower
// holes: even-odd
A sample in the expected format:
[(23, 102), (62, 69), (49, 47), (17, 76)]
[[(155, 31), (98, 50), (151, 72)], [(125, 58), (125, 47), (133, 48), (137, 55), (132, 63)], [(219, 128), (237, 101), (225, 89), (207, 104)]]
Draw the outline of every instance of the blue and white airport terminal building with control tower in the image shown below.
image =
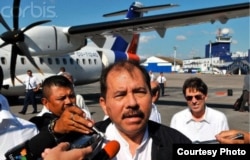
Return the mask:
[(205, 58), (183, 60), (184, 72), (214, 74), (246, 74), (250, 69), (250, 50), (231, 53), (229, 30), (219, 30), (215, 42), (205, 46)]

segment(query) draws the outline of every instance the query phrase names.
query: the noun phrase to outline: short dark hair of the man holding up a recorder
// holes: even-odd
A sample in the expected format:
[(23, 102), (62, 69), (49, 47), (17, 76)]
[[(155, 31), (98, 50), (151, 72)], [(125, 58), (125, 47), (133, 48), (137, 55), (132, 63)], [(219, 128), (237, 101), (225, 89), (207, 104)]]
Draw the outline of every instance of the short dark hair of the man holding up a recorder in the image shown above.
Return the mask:
[(68, 78), (61, 75), (51, 76), (46, 78), (42, 85), (42, 93), (44, 98), (48, 98), (50, 96), (50, 88), (52, 86), (73, 89), (73, 84), (68, 80)]

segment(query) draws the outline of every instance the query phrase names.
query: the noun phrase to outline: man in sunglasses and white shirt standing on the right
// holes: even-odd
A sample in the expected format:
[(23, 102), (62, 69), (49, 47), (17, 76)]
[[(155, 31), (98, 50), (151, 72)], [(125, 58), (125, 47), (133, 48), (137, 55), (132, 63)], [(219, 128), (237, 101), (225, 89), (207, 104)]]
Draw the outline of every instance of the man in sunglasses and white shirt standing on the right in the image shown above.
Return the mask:
[(172, 117), (172, 128), (179, 130), (193, 142), (214, 140), (215, 135), (229, 129), (225, 114), (206, 105), (208, 88), (202, 79), (188, 78), (182, 91), (188, 108)]

